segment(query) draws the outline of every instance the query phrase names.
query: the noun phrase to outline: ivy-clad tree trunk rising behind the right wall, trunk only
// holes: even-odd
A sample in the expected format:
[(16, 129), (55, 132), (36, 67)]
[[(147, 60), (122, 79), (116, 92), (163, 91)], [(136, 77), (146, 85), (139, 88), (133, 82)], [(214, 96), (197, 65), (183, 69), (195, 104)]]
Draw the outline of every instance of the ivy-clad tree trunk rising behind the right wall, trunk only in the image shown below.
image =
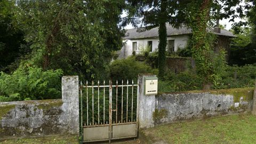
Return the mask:
[(207, 46), (207, 23), (210, 18), (211, 0), (203, 0), (199, 10), (196, 12), (195, 19), (191, 23), (193, 35), (191, 42), (193, 43), (192, 54), (196, 62), (197, 74), (203, 79), (203, 89), (211, 88), (212, 69), (209, 68), (209, 55), (207, 52), (210, 47)]

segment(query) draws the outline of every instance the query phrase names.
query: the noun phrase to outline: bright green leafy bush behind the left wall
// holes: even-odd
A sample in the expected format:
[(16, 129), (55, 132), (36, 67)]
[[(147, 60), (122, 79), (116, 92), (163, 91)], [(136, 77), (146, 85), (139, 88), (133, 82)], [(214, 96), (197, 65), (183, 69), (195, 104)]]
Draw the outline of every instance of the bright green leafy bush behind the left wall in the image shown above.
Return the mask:
[(0, 73), (0, 101), (61, 98), (62, 70), (28, 67)]

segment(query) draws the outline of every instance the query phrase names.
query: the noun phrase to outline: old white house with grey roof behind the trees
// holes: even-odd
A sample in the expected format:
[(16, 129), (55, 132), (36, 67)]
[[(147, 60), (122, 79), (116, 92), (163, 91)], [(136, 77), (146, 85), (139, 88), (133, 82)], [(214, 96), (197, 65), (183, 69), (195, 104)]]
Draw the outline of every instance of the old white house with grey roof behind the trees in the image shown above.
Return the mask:
[[(169, 52), (175, 52), (178, 49), (184, 49), (187, 46), (189, 37), (191, 35), (191, 29), (181, 27), (179, 29), (173, 28), (171, 25), (166, 25), (167, 29), (167, 47), (166, 50)], [(210, 31), (210, 30), (209, 30)], [(235, 37), (233, 33), (225, 29), (214, 28), (211, 30), (213, 34), (218, 36), (217, 49), (223, 47), (229, 54), (230, 38)], [(147, 48), (153, 52), (158, 47), (158, 28), (153, 28), (141, 33), (138, 32), (137, 28), (127, 29), (126, 36), (124, 37), (124, 46), (119, 51), (119, 59), (127, 58), (135, 54), (140, 54)]]

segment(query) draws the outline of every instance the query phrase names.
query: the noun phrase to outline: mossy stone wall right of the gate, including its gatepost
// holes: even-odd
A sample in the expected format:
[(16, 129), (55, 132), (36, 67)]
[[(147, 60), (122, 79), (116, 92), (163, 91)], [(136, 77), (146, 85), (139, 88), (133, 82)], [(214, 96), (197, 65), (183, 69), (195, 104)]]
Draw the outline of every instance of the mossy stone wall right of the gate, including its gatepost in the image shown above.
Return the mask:
[(189, 91), (145, 95), (145, 78), (139, 75), (139, 128), (252, 111), (254, 88)]

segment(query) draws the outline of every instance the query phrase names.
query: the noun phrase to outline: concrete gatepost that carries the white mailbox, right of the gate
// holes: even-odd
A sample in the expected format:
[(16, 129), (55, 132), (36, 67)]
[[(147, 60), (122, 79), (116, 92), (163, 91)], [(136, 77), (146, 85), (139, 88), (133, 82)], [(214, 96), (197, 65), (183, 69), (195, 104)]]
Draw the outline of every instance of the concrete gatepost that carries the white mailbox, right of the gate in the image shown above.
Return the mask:
[(139, 92), (138, 92), (138, 116), (139, 116), (139, 129), (153, 127), (153, 113), (156, 108), (155, 95), (145, 95), (145, 77), (152, 77), (155, 75), (139, 75)]

